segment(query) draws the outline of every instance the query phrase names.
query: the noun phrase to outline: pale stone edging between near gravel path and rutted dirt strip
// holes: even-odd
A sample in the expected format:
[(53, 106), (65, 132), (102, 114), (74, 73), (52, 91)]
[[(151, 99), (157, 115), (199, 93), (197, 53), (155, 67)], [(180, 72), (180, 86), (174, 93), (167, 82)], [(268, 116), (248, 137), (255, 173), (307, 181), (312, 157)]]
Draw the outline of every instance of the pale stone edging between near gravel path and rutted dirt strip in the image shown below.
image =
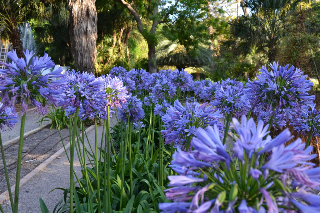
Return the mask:
[[(90, 130), (94, 129), (94, 125), (89, 126), (85, 131), (89, 132)], [(70, 148), (70, 143), (65, 145), (66, 150)], [(24, 176), (22, 179), (20, 179), (20, 188), (24, 186), (30, 179), (32, 179), (35, 175), (39, 174), (40, 171), (43, 171), (52, 161), (54, 161), (57, 157), (61, 156), (65, 152), (64, 147), (60, 148), (56, 153), (54, 153), (52, 156), (50, 156), (48, 159), (46, 159), (44, 162), (42, 162), (39, 166), (37, 166), (34, 170), (29, 172), (26, 176)], [(15, 190), (15, 184), (11, 186), (11, 192), (14, 193)], [(4, 201), (6, 201), (9, 198), (9, 191), (5, 191), (0, 195), (0, 204), (2, 204)]]

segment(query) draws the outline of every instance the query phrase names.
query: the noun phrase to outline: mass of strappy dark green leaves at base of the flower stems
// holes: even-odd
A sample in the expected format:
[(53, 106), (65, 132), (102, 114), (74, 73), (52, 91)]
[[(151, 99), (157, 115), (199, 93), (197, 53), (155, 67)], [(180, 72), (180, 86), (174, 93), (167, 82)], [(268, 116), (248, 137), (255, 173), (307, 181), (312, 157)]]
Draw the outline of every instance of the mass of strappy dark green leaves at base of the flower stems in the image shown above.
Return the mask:
[[(102, 150), (104, 157), (104, 150)], [(143, 156), (143, 154), (136, 153), (133, 157), (133, 196), (130, 197), (130, 187), (129, 187), (129, 167), (127, 166), (125, 169), (125, 184), (123, 193), (123, 208), (119, 208), (120, 205), (120, 195), (121, 195), (121, 160), (120, 154), (112, 156), (110, 162), (112, 163), (111, 172), (110, 172), (110, 184), (111, 184), (111, 196), (112, 196), (112, 209), (119, 212), (138, 212), (139, 209), (143, 209), (144, 212), (159, 212), (159, 203), (165, 202), (165, 196), (163, 193), (163, 189), (159, 186), (158, 183), (158, 162), (157, 162), (157, 154), (158, 150), (156, 150), (153, 158)], [(170, 155), (170, 153), (169, 153)], [(166, 156), (166, 161), (170, 159), (170, 156)], [(93, 203), (94, 209), (97, 208), (97, 203), (95, 199), (95, 194), (97, 194), (97, 180), (95, 174), (95, 165), (92, 164), (93, 167), (87, 167), (88, 170), (88, 178), (90, 183), (90, 188), (92, 187), (93, 191), (91, 192), (91, 202)], [(100, 172), (103, 173), (103, 162), (100, 162)], [(83, 178), (80, 179), (82, 187), (76, 187), (75, 196), (74, 196), (74, 205), (76, 209), (81, 209), (80, 211), (76, 210), (76, 212), (89, 212), (89, 203), (87, 200), (87, 180), (84, 178), (86, 175), (83, 172)], [(169, 174), (169, 168), (164, 168), (164, 180), (167, 180), (167, 175)], [(105, 199), (106, 195), (103, 194), (103, 189), (106, 186), (106, 181), (103, 180), (103, 174), (100, 175), (100, 197)], [(165, 183), (164, 185), (166, 185)], [(64, 191), (64, 198), (58, 202), (55, 207), (53, 213), (60, 212), (68, 212), (69, 199), (67, 197), (68, 189), (57, 188)], [(64, 203), (63, 203), (64, 202)], [(103, 200), (101, 201), (103, 203)], [(102, 209), (104, 210), (104, 209)]]

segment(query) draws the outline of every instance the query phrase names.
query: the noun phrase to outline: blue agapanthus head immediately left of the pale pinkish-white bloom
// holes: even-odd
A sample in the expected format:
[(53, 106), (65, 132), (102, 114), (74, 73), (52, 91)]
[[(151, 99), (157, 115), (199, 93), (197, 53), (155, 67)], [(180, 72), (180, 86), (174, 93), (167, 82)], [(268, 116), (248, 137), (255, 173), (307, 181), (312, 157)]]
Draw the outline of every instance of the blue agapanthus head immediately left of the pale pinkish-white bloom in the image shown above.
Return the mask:
[(68, 113), (75, 112), (75, 108), (81, 108), (86, 117), (93, 118), (98, 112), (103, 113), (107, 100), (104, 82), (95, 78), (92, 73), (67, 71), (67, 84), (62, 93), (63, 99), (60, 105), (68, 108)]

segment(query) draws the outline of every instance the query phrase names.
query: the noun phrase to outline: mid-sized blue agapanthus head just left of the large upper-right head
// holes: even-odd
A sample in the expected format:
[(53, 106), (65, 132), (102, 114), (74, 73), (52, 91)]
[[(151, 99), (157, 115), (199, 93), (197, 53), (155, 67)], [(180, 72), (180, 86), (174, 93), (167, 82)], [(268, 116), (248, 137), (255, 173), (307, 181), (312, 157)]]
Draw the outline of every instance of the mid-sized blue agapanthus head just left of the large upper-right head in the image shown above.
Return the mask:
[(220, 87), (215, 92), (215, 97), (210, 104), (215, 106), (216, 109), (237, 118), (248, 114), (248, 110), (251, 108), (249, 99), (243, 93), (241, 87), (234, 86)]

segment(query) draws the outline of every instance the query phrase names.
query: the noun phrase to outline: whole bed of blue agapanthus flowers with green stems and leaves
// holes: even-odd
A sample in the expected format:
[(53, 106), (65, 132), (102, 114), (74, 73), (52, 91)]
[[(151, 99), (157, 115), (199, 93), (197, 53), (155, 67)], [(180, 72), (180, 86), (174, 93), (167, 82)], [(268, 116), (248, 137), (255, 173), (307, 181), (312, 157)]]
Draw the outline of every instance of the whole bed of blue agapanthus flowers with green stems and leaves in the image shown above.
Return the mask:
[[(16, 101), (25, 106), (31, 100), (43, 114), (49, 103), (59, 105), (70, 118), (70, 187), (62, 189), (55, 212), (319, 211), (313, 192), (320, 189), (320, 173), (309, 146), (319, 136), (318, 111), (308, 94), (312, 83), (300, 69), (273, 63), (245, 86), (236, 79), (193, 81), (183, 70), (149, 74), (123, 67), (98, 78), (74, 70), (42, 76), (40, 69), (53, 65), (50, 57), (31, 60), (27, 51), (18, 59), (14, 53), (8, 53), (8, 69), (0, 70), (2, 129), (16, 122)], [(112, 131), (111, 116), (118, 120)], [(96, 131), (100, 119), (104, 129), (89, 150), (87, 118)], [(292, 138), (287, 122), (307, 140), (285, 146)], [(271, 138), (271, 128), (283, 131)], [(227, 147), (228, 133), (236, 141)], [(76, 182), (75, 153), (83, 168)], [(13, 202), (11, 195), (13, 212), (18, 198)]]

